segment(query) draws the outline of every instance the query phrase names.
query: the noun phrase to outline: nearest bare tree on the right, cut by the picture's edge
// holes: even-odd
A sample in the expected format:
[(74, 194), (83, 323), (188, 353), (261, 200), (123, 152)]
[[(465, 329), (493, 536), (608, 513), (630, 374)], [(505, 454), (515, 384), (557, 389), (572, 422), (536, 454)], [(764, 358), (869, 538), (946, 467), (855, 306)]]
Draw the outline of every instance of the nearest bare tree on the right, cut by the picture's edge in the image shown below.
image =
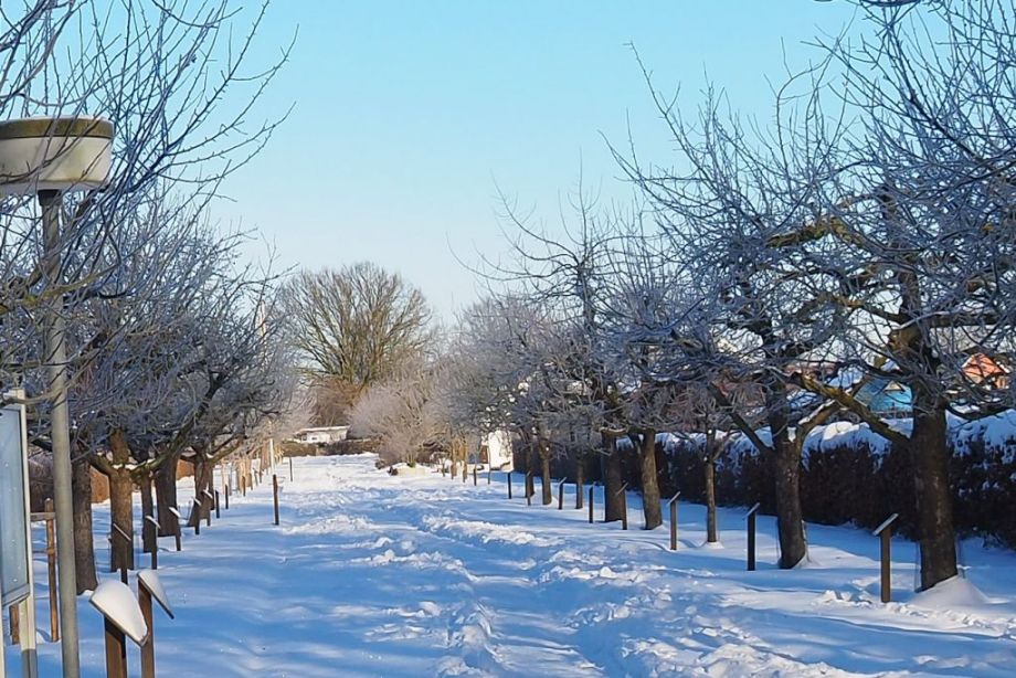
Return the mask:
[[(851, 162), (827, 213), (774, 247), (836, 250), (821, 300), (848, 309), (845, 357), (904, 384), (912, 426), (900, 431), (843, 389), (804, 379), (910, 452), (921, 586), (956, 574), (946, 413), (976, 417), (1012, 393), (963, 366), (1012, 348), (1016, 17), (1005, 3), (868, 3), (874, 38), (827, 45), (861, 110)], [(940, 38), (941, 36), (941, 38)]]

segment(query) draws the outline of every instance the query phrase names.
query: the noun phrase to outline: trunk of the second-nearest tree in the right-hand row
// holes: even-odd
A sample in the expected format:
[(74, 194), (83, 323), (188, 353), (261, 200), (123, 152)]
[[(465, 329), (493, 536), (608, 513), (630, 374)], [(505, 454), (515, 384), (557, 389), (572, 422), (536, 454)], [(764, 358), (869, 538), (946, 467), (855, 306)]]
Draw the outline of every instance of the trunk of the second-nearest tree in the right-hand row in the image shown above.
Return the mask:
[(784, 413), (786, 395), (777, 389), (769, 416), (773, 436), (773, 483), (776, 494), (776, 521), (780, 532), (780, 568), (790, 570), (807, 557), (804, 516), (801, 510), (801, 453), (790, 439)]

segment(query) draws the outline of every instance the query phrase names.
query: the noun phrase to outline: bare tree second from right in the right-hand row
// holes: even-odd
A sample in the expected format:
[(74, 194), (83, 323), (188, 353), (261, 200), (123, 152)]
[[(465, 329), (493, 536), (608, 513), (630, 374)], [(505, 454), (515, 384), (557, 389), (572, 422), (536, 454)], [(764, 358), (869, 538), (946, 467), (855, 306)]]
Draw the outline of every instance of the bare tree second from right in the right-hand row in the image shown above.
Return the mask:
[[(830, 141), (837, 120), (823, 116), (814, 82), (808, 72), (777, 93), (771, 131), (753, 131), (735, 114), (724, 114), (722, 98), (712, 92), (698, 118), (688, 121), (650, 85), (689, 169), (644, 167), (637, 157), (617, 153), (671, 237), (675, 256), (702, 285), (710, 321), (739, 347), (737, 364), (729, 361), (728, 369), (737, 368), (739, 380), (754, 381), (764, 394), (771, 442), (750, 426), (744, 433), (773, 460), (782, 568), (807, 553), (798, 488), (802, 436), (784, 373), (826, 346), (830, 325), (803, 318), (813, 290), (798, 280), (802, 262), (766, 254), (766, 247), (787, 224), (815, 216), (838, 159)], [(807, 97), (795, 104), (798, 84)]]

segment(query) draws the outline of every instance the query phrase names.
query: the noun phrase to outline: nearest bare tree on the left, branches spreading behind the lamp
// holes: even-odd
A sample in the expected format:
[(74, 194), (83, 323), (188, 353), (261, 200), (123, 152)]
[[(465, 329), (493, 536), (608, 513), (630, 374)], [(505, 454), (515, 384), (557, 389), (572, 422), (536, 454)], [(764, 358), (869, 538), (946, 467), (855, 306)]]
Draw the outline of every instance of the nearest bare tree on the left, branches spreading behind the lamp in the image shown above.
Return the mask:
[[(72, 388), (80, 394), (87, 391), (96, 405), (72, 413), (80, 417), (77, 431), (85, 433), (92, 428), (85, 420), (117, 401), (115, 390), (125, 388), (116, 377), (108, 382), (96, 378), (109, 364), (105, 360), (138, 349), (144, 336), (135, 333), (138, 318), (123, 314), (125, 299), (131, 299), (134, 309), (144, 308), (150, 299), (146, 295), (167, 289), (157, 283), (166, 267), (177, 265), (172, 255), (186, 237), (169, 233), (160, 239), (160, 230), (193, 220), (220, 182), (281, 121), (248, 123), (253, 103), (286, 59), (283, 52), (267, 68), (246, 72), (263, 15), (264, 8), (245, 34), (236, 33), (239, 40), (232, 30), (242, 20), (230, 2), (25, 2), (20, 19), (2, 17), (2, 77), (13, 86), (11, 96), (4, 91), (0, 99), (8, 116), (99, 114), (116, 128), (109, 184), (81, 200), (68, 197), (57, 203), (63, 225), (46, 243), (45, 257), (39, 256), (39, 216), (32, 203), (4, 199), (0, 209), (0, 331), (6, 335), (0, 378), (28, 386), (27, 401), (38, 406), (32, 436), (40, 445), (47, 446), (49, 431), (38, 414), (45, 413), (51, 393), (39, 370), (52, 359), (36, 348), (43, 331), (39, 311), (63, 315), (74, 329), (68, 363), (56, 367), (66, 369)], [(239, 107), (223, 107), (226, 96)], [(188, 216), (179, 219), (184, 212)], [(158, 245), (170, 247), (160, 253), (152, 250)], [(148, 265), (138, 266), (138, 259)], [(146, 358), (144, 350), (135, 353), (138, 362)], [(110, 390), (100, 394), (98, 389), (106, 386)], [(102, 458), (88, 456), (102, 441), (121, 448), (124, 432), (114, 433), (80, 436), (81, 458)], [(75, 465), (78, 541), (86, 543), (78, 553), (82, 565), (92, 561), (92, 538), (84, 510), (89, 488), (80, 478), (87, 478), (86, 464)], [(82, 572), (78, 586), (93, 587), (94, 569), (85, 565)]]

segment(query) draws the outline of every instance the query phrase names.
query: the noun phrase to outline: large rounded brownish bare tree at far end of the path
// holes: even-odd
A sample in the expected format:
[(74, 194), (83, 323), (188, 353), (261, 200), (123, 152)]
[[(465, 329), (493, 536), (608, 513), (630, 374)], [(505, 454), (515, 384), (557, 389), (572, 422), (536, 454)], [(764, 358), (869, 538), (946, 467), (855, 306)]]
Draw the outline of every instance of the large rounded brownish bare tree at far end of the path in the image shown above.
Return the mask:
[(368, 386), (417, 364), (432, 338), (423, 294), (369, 262), (301, 272), (286, 285), (285, 304), (322, 424), (345, 421)]

